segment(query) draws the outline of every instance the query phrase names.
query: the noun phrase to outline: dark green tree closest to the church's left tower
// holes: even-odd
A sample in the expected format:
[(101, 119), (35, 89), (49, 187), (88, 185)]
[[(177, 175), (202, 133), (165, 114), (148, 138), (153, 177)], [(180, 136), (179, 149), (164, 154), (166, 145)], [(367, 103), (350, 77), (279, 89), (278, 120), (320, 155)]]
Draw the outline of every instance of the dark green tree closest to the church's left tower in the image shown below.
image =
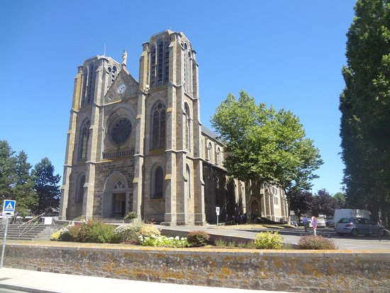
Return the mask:
[(31, 172), (34, 181), (34, 189), (38, 194), (38, 206), (36, 214), (53, 214), (58, 211), (60, 205), (60, 175), (54, 175), (52, 162), (45, 157), (34, 166)]

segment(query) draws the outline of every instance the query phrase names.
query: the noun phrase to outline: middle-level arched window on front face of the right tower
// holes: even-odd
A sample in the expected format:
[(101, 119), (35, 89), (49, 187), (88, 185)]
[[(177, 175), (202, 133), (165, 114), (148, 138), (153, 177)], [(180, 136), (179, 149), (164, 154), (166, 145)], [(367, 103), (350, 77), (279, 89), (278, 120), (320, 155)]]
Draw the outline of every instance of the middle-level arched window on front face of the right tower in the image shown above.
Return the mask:
[(165, 147), (165, 115), (167, 109), (161, 102), (152, 111), (152, 148)]

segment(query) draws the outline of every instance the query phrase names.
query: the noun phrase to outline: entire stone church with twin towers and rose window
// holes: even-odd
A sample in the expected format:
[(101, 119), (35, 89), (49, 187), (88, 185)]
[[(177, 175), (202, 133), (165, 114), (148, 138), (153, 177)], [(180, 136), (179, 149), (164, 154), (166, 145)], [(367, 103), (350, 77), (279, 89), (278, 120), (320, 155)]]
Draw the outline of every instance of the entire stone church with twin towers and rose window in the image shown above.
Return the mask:
[(233, 216), (287, 220), (281, 189), (226, 176), (223, 143), (201, 125), (196, 52), (183, 33), (143, 43), (139, 80), (122, 61), (78, 67), (67, 133), (60, 219), (204, 225)]

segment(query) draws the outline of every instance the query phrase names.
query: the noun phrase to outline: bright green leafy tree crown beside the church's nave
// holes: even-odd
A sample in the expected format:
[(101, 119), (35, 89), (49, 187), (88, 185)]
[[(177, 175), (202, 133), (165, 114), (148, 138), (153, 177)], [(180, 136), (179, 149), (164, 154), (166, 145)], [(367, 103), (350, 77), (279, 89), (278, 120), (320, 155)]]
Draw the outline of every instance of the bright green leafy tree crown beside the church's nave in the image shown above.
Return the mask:
[(305, 138), (299, 118), (241, 91), (228, 94), (211, 119), (226, 145), (224, 167), (228, 175), (245, 182), (271, 182), (286, 194), (308, 189), (323, 163), (313, 141)]

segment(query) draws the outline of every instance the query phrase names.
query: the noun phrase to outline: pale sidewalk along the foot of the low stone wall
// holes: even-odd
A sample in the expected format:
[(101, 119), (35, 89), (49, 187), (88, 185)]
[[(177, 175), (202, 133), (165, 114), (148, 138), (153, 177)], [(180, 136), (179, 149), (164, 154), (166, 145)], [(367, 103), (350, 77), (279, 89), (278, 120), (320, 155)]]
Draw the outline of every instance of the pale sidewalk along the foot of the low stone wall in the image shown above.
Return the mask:
[[(194, 276), (196, 277), (196, 276)], [(131, 280), (65, 275), (54, 272), (0, 269), (0, 288), (30, 293), (107, 293), (107, 292), (186, 292), (186, 293), (286, 293), (281, 291), (247, 290), (219, 287), (202, 287), (184, 284), (168, 284)]]

